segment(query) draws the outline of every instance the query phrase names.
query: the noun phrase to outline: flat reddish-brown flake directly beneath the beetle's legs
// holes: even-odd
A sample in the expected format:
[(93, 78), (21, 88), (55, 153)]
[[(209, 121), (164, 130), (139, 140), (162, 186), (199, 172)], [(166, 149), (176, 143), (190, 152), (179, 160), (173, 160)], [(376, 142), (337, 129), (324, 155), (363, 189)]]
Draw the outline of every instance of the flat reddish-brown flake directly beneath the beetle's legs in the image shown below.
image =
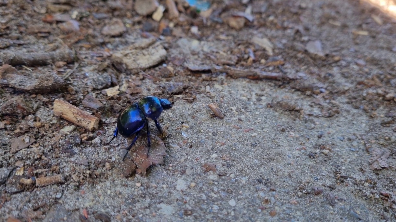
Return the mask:
[(136, 172), (146, 175), (148, 167), (155, 164), (163, 164), (164, 156), (166, 155), (166, 147), (164, 141), (156, 135), (150, 135), (151, 147), (147, 157), (147, 137), (139, 137), (138, 145), (132, 160), (136, 164)]

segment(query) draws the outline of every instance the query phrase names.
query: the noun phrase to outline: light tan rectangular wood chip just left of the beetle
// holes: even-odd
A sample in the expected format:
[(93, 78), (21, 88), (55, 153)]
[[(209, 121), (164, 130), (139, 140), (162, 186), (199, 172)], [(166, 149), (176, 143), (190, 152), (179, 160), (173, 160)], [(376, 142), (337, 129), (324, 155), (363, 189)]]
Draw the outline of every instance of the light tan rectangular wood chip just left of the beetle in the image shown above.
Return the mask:
[(55, 115), (90, 131), (97, 129), (99, 126), (99, 118), (62, 100), (55, 100), (53, 111)]

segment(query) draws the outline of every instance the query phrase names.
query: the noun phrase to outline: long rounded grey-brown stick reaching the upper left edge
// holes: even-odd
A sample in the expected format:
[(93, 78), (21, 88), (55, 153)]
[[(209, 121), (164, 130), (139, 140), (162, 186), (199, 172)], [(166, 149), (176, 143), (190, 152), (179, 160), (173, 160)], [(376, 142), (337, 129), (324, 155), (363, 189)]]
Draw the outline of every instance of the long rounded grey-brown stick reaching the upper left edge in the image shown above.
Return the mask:
[(58, 61), (73, 62), (74, 52), (65, 48), (45, 53), (4, 52), (0, 53), (0, 60), (11, 66), (45, 66)]

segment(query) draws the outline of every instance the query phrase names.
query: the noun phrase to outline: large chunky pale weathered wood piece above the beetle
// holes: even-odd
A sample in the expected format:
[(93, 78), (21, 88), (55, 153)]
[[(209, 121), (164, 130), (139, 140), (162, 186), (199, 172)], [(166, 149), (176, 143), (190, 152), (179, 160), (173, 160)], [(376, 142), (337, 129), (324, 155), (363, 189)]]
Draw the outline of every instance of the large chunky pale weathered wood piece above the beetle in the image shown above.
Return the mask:
[(159, 43), (150, 40), (139, 40), (125, 49), (114, 52), (111, 56), (114, 66), (128, 75), (136, 74), (162, 62), (166, 57), (166, 50)]

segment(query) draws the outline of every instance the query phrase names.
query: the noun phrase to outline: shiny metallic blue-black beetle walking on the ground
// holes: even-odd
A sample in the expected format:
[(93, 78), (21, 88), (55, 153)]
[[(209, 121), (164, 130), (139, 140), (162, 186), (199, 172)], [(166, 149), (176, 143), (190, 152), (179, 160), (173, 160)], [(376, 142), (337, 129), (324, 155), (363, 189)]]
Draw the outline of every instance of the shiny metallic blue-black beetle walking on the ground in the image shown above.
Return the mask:
[[(162, 134), (162, 127), (160, 122), (158, 121), (158, 117), (160, 117), (162, 111), (164, 109), (172, 108), (172, 103), (167, 99), (159, 99), (155, 96), (145, 96), (141, 98), (138, 102), (132, 103), (125, 107), (124, 110), (118, 115), (117, 118), (117, 127), (114, 130), (113, 138), (110, 142), (121, 134), (123, 137), (130, 137), (135, 134), (135, 138), (133, 139), (131, 145), (129, 145), (124, 158), (135, 144), (137, 138), (139, 137), (143, 127), (146, 126), (147, 129), (147, 143), (148, 143), (148, 151), (150, 151), (150, 127), (148, 126), (148, 120), (154, 120), (155, 126), (158, 131)], [(109, 143), (110, 143), (109, 142)]]

